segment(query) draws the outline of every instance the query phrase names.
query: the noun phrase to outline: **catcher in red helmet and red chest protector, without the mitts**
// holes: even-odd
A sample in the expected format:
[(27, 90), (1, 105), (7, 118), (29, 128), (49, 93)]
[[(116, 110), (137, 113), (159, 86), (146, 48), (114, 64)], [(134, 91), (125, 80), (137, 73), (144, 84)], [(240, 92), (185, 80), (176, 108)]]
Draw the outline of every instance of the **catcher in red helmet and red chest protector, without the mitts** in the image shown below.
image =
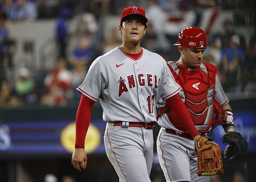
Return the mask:
[[(174, 45), (178, 45), (180, 58), (167, 62), (168, 67), (181, 86), (178, 94), (200, 135), (206, 135), (219, 122), (219, 118), (212, 119), (214, 109), (219, 105), (225, 116), (222, 126), (229, 133), (228, 136), (241, 137), (234, 128), (233, 113), (217, 77), (216, 66), (203, 62), (207, 47), (205, 32), (196, 27), (184, 28)], [(209, 181), (209, 176), (197, 174), (198, 155), (193, 135), (180, 123), (172, 108), (164, 106), (162, 101), (158, 106), (162, 108), (158, 114), (161, 129), (157, 138), (157, 152), (166, 181)], [(243, 138), (239, 140), (245, 144)]]

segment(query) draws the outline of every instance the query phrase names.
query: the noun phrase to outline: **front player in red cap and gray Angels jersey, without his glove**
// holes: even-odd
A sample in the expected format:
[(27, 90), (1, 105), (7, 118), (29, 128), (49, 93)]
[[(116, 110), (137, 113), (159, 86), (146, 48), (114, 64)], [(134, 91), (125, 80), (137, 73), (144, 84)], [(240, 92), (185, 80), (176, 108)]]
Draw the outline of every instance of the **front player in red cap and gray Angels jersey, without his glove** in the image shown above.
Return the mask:
[(196, 136), (189, 113), (177, 94), (175, 82), (166, 61), (158, 54), (140, 47), (146, 32), (145, 11), (137, 6), (124, 8), (119, 32), (122, 45), (96, 58), (77, 90), (82, 94), (76, 114), (76, 141), (72, 165), (86, 168), (84, 139), (90, 124), (94, 103), (99, 100), (106, 123), (106, 155), (119, 181), (151, 181), (153, 162), (153, 126), (156, 103), (166, 100), (179, 120)]

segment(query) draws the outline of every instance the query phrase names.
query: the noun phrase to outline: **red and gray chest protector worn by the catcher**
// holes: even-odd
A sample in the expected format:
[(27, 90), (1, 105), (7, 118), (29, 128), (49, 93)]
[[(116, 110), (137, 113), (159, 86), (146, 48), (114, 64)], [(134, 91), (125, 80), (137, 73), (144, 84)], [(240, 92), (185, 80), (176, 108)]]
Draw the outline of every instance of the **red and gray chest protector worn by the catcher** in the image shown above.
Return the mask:
[[(202, 63), (200, 67), (191, 69), (177, 66), (174, 61), (169, 61), (168, 66), (176, 82), (181, 86), (179, 96), (186, 105), (197, 130), (207, 132), (212, 125), (217, 67)], [(187, 132), (172, 110), (168, 111), (167, 115), (177, 129)]]

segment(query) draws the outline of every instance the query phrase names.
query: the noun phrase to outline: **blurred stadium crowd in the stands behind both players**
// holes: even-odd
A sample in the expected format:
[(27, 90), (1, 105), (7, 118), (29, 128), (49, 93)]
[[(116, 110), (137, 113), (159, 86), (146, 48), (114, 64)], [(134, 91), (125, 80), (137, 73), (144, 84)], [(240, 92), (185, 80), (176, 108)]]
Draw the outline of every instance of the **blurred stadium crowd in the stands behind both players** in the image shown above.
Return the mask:
[[(113, 27), (108, 36), (104, 36), (103, 27), (108, 24), (104, 21), (105, 16), (119, 16), (120, 9), (133, 4), (145, 8), (150, 20), (142, 47), (161, 54), (166, 61), (175, 60), (179, 56), (177, 49), (172, 46), (178, 31), (186, 26), (202, 27), (205, 10), (209, 9), (216, 15), (220, 11), (253, 9), (255, 6), (253, 1), (245, 5), (243, 1), (232, 3), (220, 0), (1, 1), (0, 108), (34, 104), (66, 106), (77, 101), (79, 94), (75, 88), (83, 81), (92, 61), (121, 44), (117, 27)], [(78, 19), (78, 24), (75, 31), (71, 32), (69, 22), (74, 18)], [(13, 48), (16, 40), (9, 35), (6, 22), (15, 24), (39, 19), (56, 21), (57, 59), (50, 70), (34, 77), (33, 71), (26, 64), (15, 67)], [(221, 33), (211, 32), (209, 26), (205, 27), (209, 42), (204, 61), (218, 67), (218, 76), (225, 92), (233, 93), (236, 97), (255, 97), (255, 28), (249, 40), (246, 40), (244, 34), (236, 31), (237, 22), (234, 19), (223, 19), (222, 26)], [(29, 45), (27, 49), (31, 49)], [(10, 70), (15, 71), (15, 76), (11, 75)]]

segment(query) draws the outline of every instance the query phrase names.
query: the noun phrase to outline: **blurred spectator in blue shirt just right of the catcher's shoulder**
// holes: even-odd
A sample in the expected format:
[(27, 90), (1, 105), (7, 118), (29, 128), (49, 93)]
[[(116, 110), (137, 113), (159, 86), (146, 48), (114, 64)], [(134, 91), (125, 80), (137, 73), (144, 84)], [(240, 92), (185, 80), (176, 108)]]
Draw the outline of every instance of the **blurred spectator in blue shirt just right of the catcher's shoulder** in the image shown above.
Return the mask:
[(227, 77), (227, 89), (232, 89), (236, 84), (237, 72), (241, 69), (241, 64), (244, 62), (245, 55), (239, 44), (238, 35), (233, 35), (231, 36), (229, 46), (223, 49), (222, 61), (224, 73)]

